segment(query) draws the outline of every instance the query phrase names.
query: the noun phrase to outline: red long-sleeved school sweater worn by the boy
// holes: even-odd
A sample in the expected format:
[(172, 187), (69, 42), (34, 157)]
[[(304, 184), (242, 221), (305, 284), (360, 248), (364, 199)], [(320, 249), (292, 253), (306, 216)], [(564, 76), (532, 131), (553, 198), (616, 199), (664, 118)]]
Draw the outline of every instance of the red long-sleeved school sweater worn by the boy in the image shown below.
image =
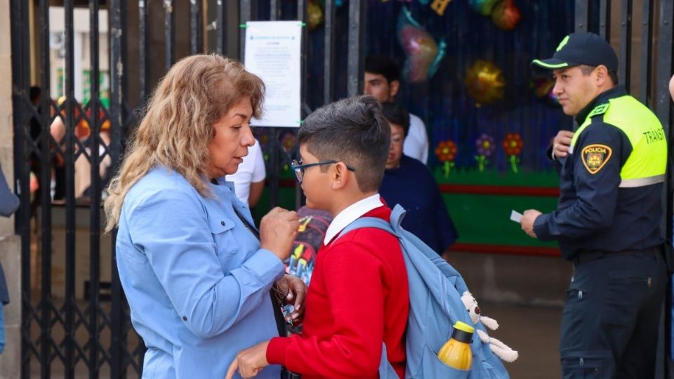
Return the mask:
[[(364, 216), (390, 220), (387, 206)], [(362, 228), (322, 246), (305, 299), (302, 333), (272, 338), (267, 361), (302, 378), (378, 378), (381, 343), (401, 378), (409, 313), (397, 238)]]

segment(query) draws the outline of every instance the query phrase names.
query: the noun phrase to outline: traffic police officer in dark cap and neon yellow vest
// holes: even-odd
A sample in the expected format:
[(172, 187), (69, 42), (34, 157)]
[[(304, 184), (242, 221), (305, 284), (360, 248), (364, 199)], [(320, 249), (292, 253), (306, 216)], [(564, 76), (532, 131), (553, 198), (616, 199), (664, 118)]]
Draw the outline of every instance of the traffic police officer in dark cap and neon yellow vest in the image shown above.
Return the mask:
[(574, 264), (562, 314), (562, 373), (653, 378), (666, 285), (665, 133), (618, 85), (616, 53), (597, 34), (570, 34), (553, 58), (532, 65), (553, 72), (553, 92), (579, 125), (555, 138), (557, 210), (525, 211), (521, 220), (529, 236), (559, 241)]

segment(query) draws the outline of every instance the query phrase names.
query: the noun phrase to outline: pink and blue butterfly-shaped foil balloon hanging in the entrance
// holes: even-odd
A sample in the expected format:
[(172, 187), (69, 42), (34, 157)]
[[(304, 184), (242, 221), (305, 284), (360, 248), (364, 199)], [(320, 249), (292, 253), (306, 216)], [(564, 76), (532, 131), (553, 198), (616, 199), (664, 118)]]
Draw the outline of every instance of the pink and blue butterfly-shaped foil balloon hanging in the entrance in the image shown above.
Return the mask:
[(444, 57), (446, 44), (435, 39), (413, 18), (407, 7), (398, 16), (398, 41), (407, 55), (403, 76), (409, 83), (419, 83), (432, 77)]

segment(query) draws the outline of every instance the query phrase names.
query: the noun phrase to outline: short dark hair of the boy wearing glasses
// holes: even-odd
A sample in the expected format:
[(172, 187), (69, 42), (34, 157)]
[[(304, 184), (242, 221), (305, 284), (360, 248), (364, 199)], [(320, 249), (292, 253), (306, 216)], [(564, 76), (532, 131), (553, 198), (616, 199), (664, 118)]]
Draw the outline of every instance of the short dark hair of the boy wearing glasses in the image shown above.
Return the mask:
[[(338, 159), (355, 168), (362, 192), (379, 189), (391, 128), (376, 98), (354, 96), (316, 109), (300, 127), (298, 141), (319, 161)], [(328, 169), (320, 167), (323, 172)]]

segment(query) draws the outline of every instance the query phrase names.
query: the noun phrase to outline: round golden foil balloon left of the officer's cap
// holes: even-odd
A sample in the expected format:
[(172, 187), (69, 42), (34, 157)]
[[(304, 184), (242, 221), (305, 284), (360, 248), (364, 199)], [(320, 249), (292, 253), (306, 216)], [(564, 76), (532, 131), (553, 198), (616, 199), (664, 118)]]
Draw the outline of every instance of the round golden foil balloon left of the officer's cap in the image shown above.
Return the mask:
[(503, 72), (494, 62), (477, 60), (466, 69), (463, 83), (477, 107), (482, 104), (492, 104), (503, 98), (503, 93), (505, 93)]

